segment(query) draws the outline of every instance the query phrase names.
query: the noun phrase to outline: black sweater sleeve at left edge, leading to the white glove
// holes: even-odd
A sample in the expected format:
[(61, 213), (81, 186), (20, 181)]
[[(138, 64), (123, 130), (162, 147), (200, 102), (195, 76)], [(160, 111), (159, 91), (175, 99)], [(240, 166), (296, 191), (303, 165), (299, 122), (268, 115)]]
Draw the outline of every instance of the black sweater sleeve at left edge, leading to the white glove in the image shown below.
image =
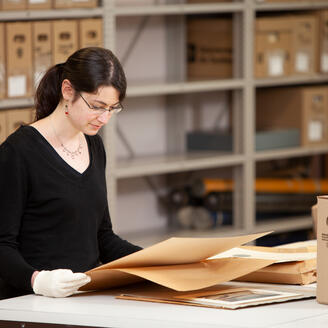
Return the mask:
[(32, 291), (35, 269), (19, 250), (19, 231), (27, 200), (27, 174), (23, 162), (8, 142), (0, 146), (0, 277), (18, 289)]

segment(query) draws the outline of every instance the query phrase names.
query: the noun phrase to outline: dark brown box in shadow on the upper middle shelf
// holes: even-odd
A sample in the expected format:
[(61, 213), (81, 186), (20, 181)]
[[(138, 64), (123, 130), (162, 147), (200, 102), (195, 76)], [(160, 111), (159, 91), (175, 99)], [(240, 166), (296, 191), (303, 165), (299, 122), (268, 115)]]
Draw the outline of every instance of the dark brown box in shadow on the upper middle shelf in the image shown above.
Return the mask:
[(187, 47), (188, 79), (232, 77), (231, 19), (188, 19)]

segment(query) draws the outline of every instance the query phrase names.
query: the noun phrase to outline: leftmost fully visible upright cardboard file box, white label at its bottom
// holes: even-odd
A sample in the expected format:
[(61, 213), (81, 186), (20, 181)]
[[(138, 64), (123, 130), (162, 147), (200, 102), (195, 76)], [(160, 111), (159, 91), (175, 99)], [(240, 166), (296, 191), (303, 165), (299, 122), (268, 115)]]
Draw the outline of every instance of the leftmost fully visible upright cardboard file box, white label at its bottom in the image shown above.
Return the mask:
[(32, 95), (32, 25), (6, 23), (7, 96)]

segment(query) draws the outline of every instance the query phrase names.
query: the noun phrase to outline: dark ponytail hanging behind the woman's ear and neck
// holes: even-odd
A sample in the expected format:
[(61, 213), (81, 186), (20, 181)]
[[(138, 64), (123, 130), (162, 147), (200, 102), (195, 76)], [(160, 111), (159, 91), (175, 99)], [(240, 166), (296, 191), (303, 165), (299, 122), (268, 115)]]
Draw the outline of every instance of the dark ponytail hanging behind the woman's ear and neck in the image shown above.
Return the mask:
[(41, 79), (34, 96), (36, 120), (50, 115), (61, 99), (64, 63), (50, 67)]

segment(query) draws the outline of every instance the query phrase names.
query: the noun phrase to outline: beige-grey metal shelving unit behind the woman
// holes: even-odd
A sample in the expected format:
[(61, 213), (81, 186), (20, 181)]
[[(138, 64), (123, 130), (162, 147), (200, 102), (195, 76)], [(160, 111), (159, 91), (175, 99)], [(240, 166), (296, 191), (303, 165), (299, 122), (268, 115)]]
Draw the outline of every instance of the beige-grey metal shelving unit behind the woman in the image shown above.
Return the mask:
[[(103, 1), (100, 8), (95, 9), (71, 9), (71, 10), (46, 10), (46, 11), (16, 11), (0, 12), (0, 21), (13, 20), (43, 20), (61, 18), (82, 18), (82, 17), (103, 17), (104, 19), (104, 44), (105, 47), (115, 52), (117, 19), (128, 16), (161, 15), (167, 18), (168, 26), (170, 22), (179, 23), (180, 18), (189, 14), (214, 14), (230, 13), (235, 16), (235, 26), (238, 29), (235, 37), (237, 45), (236, 55), (239, 60), (235, 63), (239, 67), (239, 74), (233, 79), (185, 82), (181, 78), (179, 63), (174, 64), (168, 73), (173, 76), (175, 82), (157, 82), (147, 84), (129, 84), (127, 90), (128, 98), (164, 96), (167, 99), (168, 108), (172, 109), (168, 118), (172, 123), (178, 113), (179, 101), (184, 94), (207, 91), (231, 91), (234, 98), (234, 134), (235, 147), (233, 153), (202, 153), (193, 155), (163, 155), (155, 157), (136, 158), (131, 160), (118, 160), (115, 149), (115, 139), (117, 138), (117, 122), (115, 116), (102, 131), (105, 148), (108, 155), (107, 181), (108, 197), (112, 220), (115, 224), (117, 213), (117, 193), (118, 181), (134, 177), (160, 175), (168, 173), (185, 172), (191, 170), (203, 170), (214, 168), (230, 167), (233, 170), (235, 180), (234, 192), (234, 225), (233, 227), (222, 227), (211, 231), (159, 231), (154, 236), (148, 235), (132, 237), (132, 241), (140, 239), (140, 244), (147, 244), (144, 240), (151, 240), (151, 243), (160, 239), (175, 236), (226, 236), (253, 233), (258, 231), (274, 230), (276, 232), (287, 232), (297, 229), (310, 228), (312, 226), (310, 217), (298, 217), (277, 220), (265, 220), (256, 222), (255, 220), (255, 193), (254, 181), (256, 178), (256, 163), (265, 160), (274, 160), (288, 157), (311, 156), (328, 153), (328, 146), (318, 146), (313, 148), (290, 148), (270, 151), (254, 150), (255, 140), (255, 93), (256, 88), (287, 86), (297, 84), (319, 84), (328, 82), (328, 75), (316, 74), (313, 76), (295, 76), (275, 79), (255, 79), (253, 76), (253, 26), (257, 12), (274, 12), (287, 10), (314, 10), (328, 8), (328, 2), (319, 3), (258, 3), (256, 0), (243, 0), (236, 3), (212, 3), (212, 4), (186, 4), (184, 0), (167, 0), (166, 5), (139, 5), (139, 6), (119, 6), (114, 0)], [(179, 31), (178, 31), (179, 32)], [(181, 31), (180, 31), (181, 32)], [(170, 34), (171, 33), (171, 34)], [(173, 34), (172, 34), (173, 33)], [(173, 37), (172, 37), (173, 35)], [(169, 32), (168, 45), (174, 42), (182, 42), (181, 33)], [(180, 47), (183, 46), (180, 44)], [(242, 54), (242, 55), (241, 55)], [(240, 69), (242, 67), (242, 69)], [(129, 81), (128, 81), (129, 82)], [(182, 100), (183, 101), (183, 100)], [(0, 101), (0, 109), (29, 107), (33, 105), (33, 99), (7, 99)], [(169, 114), (168, 114), (169, 115)], [(170, 131), (172, 138), (177, 135), (172, 124)], [(144, 131), (147, 133), (147, 131)], [(174, 149), (172, 141), (169, 145)], [(170, 153), (170, 151), (169, 151)], [(174, 153), (174, 152), (173, 152)], [(133, 204), (131, 204), (133, 206)], [(146, 227), (145, 227), (146, 230)]]

